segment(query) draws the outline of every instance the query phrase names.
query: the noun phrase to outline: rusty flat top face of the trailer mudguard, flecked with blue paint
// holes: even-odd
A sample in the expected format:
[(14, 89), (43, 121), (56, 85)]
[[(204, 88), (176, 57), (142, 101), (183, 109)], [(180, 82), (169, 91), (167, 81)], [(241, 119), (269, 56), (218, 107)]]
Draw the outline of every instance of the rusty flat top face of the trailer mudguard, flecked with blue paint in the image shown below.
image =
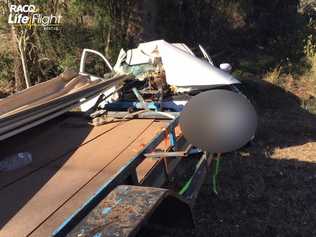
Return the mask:
[[(167, 189), (118, 186), (67, 236), (135, 236), (168, 196), (173, 196), (173, 193)], [(181, 202), (180, 199), (177, 201)], [(189, 209), (186, 203), (183, 202), (183, 205)], [(188, 225), (192, 223), (191, 216), (188, 216), (187, 222)]]

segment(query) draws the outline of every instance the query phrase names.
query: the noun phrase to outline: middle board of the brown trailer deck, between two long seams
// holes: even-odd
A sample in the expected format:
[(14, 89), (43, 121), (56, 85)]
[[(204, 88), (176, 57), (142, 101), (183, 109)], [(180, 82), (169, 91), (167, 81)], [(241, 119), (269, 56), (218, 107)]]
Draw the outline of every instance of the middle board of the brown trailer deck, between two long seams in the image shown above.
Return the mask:
[(125, 150), (152, 120), (131, 120), (0, 191), (0, 236), (26, 236)]

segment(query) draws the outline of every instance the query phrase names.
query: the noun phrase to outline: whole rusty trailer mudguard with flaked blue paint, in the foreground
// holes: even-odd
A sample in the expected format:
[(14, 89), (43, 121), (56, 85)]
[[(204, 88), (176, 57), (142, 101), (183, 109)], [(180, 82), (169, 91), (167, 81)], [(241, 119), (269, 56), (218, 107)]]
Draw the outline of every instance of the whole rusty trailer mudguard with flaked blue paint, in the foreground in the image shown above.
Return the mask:
[[(159, 218), (161, 216), (163, 218)], [(116, 187), (66, 236), (132, 237), (145, 222), (169, 228), (194, 226), (190, 206), (174, 192), (122, 185)]]

